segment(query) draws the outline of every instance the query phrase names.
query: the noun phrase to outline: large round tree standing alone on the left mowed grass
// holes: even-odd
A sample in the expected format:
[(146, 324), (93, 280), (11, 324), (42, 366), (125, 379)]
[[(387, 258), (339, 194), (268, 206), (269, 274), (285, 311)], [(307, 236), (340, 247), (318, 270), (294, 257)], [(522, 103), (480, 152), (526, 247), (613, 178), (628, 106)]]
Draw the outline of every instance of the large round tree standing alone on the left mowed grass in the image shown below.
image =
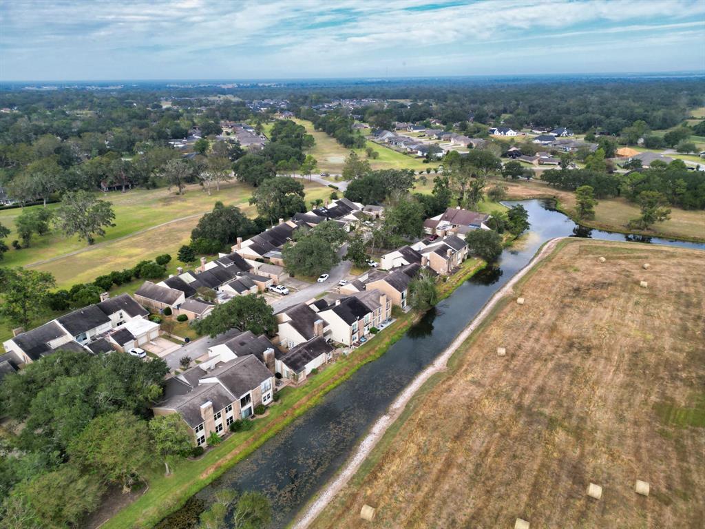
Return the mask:
[(56, 221), (59, 229), (71, 237), (78, 233), (79, 239), (85, 239), (89, 245), (95, 242), (95, 236), (104, 236), (104, 227), (115, 226), (115, 213), (110, 202), (99, 200), (83, 190), (63, 195), (61, 206), (56, 209)]

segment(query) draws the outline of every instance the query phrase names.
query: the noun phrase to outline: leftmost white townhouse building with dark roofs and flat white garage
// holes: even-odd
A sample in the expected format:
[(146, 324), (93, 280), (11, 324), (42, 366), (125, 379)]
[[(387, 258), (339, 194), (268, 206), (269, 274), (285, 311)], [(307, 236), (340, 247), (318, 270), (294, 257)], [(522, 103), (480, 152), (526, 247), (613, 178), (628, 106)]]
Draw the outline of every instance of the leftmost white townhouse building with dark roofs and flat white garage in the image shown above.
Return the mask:
[(3, 343), (6, 353), (14, 353), (21, 363), (30, 363), (56, 350), (104, 351), (106, 341), (122, 349), (125, 342), (118, 344), (120, 340), (113, 339), (113, 334), (127, 338), (127, 345), (133, 344), (130, 348), (159, 336), (159, 324), (147, 320), (149, 312), (128, 294), (109, 298), (104, 293), (102, 298), (100, 303), (69, 312), (31, 331), (16, 329), (16, 335)]

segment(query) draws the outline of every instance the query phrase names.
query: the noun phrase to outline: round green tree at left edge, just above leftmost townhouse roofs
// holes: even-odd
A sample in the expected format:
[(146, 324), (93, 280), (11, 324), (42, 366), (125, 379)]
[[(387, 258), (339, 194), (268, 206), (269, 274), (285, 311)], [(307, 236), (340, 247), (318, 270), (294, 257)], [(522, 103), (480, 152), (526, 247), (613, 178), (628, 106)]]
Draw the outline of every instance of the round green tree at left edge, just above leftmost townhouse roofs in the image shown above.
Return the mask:
[(49, 272), (22, 267), (0, 269), (0, 314), (13, 324), (27, 327), (47, 307), (49, 288), (55, 285)]

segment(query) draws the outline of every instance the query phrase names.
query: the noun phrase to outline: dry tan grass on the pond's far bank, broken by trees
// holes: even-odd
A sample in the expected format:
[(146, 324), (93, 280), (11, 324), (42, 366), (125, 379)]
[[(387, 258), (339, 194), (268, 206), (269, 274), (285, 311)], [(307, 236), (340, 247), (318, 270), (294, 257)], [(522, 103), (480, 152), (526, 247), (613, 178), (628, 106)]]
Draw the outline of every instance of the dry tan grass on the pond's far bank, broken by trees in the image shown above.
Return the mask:
[[(575, 194), (570, 191), (552, 188), (540, 181), (503, 181), (502, 178), (492, 178), (495, 182), (503, 182), (508, 187), (510, 199), (556, 198), (560, 209), (568, 214), (575, 214)], [(599, 200), (595, 207), (595, 219), (581, 221), (581, 224), (596, 229), (609, 231), (630, 231), (647, 236), (685, 238), (694, 241), (705, 240), (705, 211), (695, 211), (671, 207), (670, 219), (654, 224), (648, 231), (633, 231), (627, 229), (630, 219), (639, 217), (639, 207), (623, 198), (608, 198)]]

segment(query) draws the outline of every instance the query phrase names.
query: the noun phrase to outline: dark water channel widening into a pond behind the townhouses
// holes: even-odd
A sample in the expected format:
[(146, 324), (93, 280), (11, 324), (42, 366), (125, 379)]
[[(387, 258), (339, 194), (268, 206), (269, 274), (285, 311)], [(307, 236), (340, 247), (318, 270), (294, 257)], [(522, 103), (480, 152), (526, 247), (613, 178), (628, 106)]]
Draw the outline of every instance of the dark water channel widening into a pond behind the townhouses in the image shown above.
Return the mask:
[(462, 284), (379, 360), (361, 367), (318, 406), (228, 470), (197, 497), (209, 499), (222, 488), (264, 492), (274, 511), (271, 527), (285, 527), (341, 468), (357, 442), (397, 394), (448, 346), (501, 286), (527, 265), (548, 239), (580, 236), (705, 250), (705, 244), (584, 229), (543, 200), (505, 202), (508, 206), (517, 203), (529, 212), (531, 229), (521, 241), (504, 251), (497, 267), (486, 269)]

